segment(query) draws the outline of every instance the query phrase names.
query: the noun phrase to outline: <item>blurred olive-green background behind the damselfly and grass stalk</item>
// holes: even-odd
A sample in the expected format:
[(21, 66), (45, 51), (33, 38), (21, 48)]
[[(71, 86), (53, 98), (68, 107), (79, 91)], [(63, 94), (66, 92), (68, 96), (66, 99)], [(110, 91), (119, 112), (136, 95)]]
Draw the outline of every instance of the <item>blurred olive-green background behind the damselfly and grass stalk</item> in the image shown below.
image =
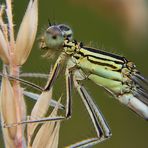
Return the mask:
[[(131, 2), (134, 3), (134, 1)], [(18, 30), (27, 4), (27, 0), (14, 0), (16, 30)], [(147, 12), (141, 13), (141, 11), (147, 10), (146, 8), (148, 8), (146, 1), (143, 1), (143, 4), (129, 5), (116, 0), (112, 0), (112, 2), (107, 0), (100, 2), (97, 0), (40, 0), (37, 37), (48, 26), (48, 19), (51, 22), (68, 24), (72, 27), (74, 38), (78, 41), (121, 54), (135, 62), (141, 73), (148, 76), (148, 25), (146, 17), (144, 17), (144, 15), (147, 16)], [(141, 17), (142, 19), (140, 19)], [(134, 22), (136, 19), (137, 22)], [(52, 61), (41, 58), (41, 54), (36, 40), (27, 63), (22, 67), (22, 72), (48, 73)], [(57, 99), (61, 92), (65, 92), (63, 80), (63, 77), (59, 78), (54, 87), (54, 97)], [(113, 133), (111, 139), (94, 147), (147, 148), (148, 123), (110, 97), (104, 89), (91, 82), (84, 82), (84, 84), (102, 110)], [(29, 110), (32, 105), (32, 101), (27, 100)], [(61, 124), (59, 148), (94, 136), (95, 132), (86, 109), (74, 91), (73, 115), (70, 120)], [(3, 146), (0, 145), (0, 147)]]

